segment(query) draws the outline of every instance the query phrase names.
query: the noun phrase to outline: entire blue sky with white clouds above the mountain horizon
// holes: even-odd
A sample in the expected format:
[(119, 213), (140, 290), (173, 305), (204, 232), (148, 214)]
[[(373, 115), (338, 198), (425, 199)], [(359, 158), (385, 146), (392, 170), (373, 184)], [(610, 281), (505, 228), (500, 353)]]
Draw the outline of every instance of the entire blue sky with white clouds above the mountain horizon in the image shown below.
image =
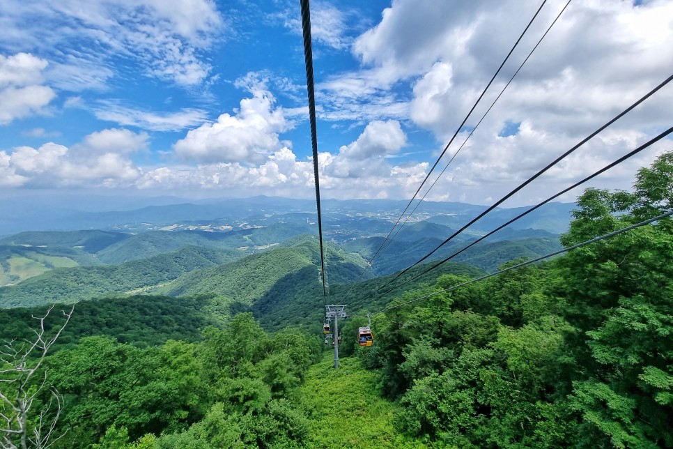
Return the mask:
[[(548, 0), (459, 128), (540, 4), (311, 1), (321, 196), (410, 199), (459, 130), (426, 198), (490, 204), (673, 74), (672, 1), (575, 0), (502, 91)], [(299, 0), (3, 0), (0, 29), (0, 195), (315, 195)], [(504, 206), (672, 122), (667, 85)], [(628, 190), (672, 149), (591, 185)]]

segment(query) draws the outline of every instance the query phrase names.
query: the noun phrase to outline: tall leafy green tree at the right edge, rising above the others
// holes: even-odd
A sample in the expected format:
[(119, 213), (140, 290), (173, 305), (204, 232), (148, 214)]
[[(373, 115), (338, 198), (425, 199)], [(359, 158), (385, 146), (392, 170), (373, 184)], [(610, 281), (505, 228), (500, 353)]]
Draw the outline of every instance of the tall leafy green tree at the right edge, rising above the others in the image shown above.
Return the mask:
[[(589, 189), (566, 246), (670, 210), (673, 152), (640, 169), (633, 193)], [(558, 260), (557, 294), (579, 333), (578, 446), (673, 446), (673, 222), (664, 218)]]

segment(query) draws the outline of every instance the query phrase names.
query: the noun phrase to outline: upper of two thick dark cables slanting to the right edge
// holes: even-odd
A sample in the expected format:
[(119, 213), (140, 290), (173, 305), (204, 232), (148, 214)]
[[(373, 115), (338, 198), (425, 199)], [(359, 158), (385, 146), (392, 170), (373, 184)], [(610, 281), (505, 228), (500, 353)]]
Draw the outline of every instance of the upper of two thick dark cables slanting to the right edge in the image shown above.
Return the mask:
[(417, 266), (417, 265), (420, 264), (422, 261), (428, 259), (428, 257), (430, 257), (430, 256), (431, 256), (432, 254), (434, 254), (437, 250), (439, 250), (440, 248), (442, 248), (442, 246), (444, 246), (444, 245), (446, 245), (447, 243), (449, 243), (449, 241), (453, 240), (456, 236), (458, 236), (458, 234), (461, 234), (463, 231), (465, 231), (465, 229), (467, 229), (467, 228), (470, 227), (471, 225), (474, 225), (474, 223), (477, 222), (478, 220), (480, 220), (481, 218), (483, 218), (484, 215), (486, 215), (486, 214), (489, 213), (490, 211), (493, 211), (493, 209), (495, 209), (497, 206), (500, 206), (500, 204), (502, 204), (504, 201), (506, 201), (507, 199), (509, 199), (509, 198), (512, 197), (513, 195), (515, 195), (519, 190), (525, 188), (526, 185), (528, 185), (529, 183), (532, 183), (532, 181), (534, 181), (536, 178), (539, 178), (539, 176), (541, 176), (543, 173), (547, 172), (548, 169), (554, 167), (554, 166), (555, 166), (558, 162), (560, 162), (563, 158), (565, 158), (566, 156), (570, 155), (571, 153), (573, 153), (573, 151), (575, 151), (575, 150), (577, 150), (578, 148), (580, 148), (580, 146), (584, 145), (585, 143), (589, 142), (589, 140), (591, 140), (591, 139), (593, 139), (594, 137), (596, 137), (596, 135), (598, 135), (599, 132), (605, 130), (605, 128), (608, 128), (608, 126), (612, 125), (612, 123), (614, 123), (615, 121), (621, 119), (621, 117), (623, 117), (624, 115), (628, 114), (628, 112), (631, 112), (631, 110), (633, 110), (635, 107), (637, 107), (637, 106), (640, 105), (642, 102), (644, 102), (644, 100), (647, 100), (647, 98), (651, 97), (654, 93), (656, 93), (656, 92), (659, 91), (661, 88), (663, 88), (663, 86), (665, 86), (666, 84), (668, 84), (672, 79), (673, 79), (673, 75), (670, 75), (669, 77), (667, 77), (667, 79), (665, 79), (662, 83), (660, 83), (660, 84), (659, 84), (658, 86), (656, 86), (654, 89), (652, 89), (652, 90), (649, 91), (647, 94), (645, 94), (644, 96), (642, 96), (639, 100), (637, 100), (636, 102), (634, 102), (633, 105), (631, 105), (631, 106), (627, 107), (626, 109), (624, 109), (624, 111), (620, 112), (619, 114), (617, 114), (617, 116), (614, 116), (614, 118), (612, 118), (610, 121), (608, 121), (607, 123), (605, 123), (604, 125), (602, 125), (600, 128), (598, 128), (597, 130), (595, 130), (594, 132), (592, 132), (590, 135), (588, 135), (588, 136), (585, 137), (584, 139), (582, 139), (581, 142), (579, 142), (578, 144), (575, 144), (575, 146), (573, 146), (571, 149), (569, 149), (568, 151), (566, 151), (565, 153), (563, 153), (562, 155), (560, 155), (558, 158), (556, 158), (555, 160), (553, 160), (552, 162), (550, 162), (546, 167), (544, 167), (543, 169), (539, 170), (539, 172), (537, 172), (536, 174), (534, 174), (533, 176), (531, 176), (530, 178), (528, 178), (526, 181), (524, 181), (523, 183), (521, 183), (520, 185), (518, 185), (517, 188), (513, 189), (513, 190), (512, 190), (511, 192), (509, 192), (507, 195), (505, 195), (504, 197), (502, 197), (501, 199), (499, 199), (498, 201), (496, 201), (495, 204), (493, 204), (493, 206), (490, 206), (489, 208), (487, 208), (486, 211), (484, 211), (484, 212), (480, 213), (479, 215), (477, 215), (477, 217), (476, 217), (476, 218), (473, 218), (469, 223), (467, 223), (467, 225), (463, 226), (461, 229), (458, 229), (458, 231), (454, 232), (454, 234), (452, 234), (449, 238), (447, 238), (447, 239), (444, 240), (442, 243), (440, 243), (440, 245), (438, 245), (434, 250), (432, 250), (431, 252), (428, 252), (428, 254), (426, 254), (424, 257), (421, 257), (421, 259), (419, 259), (418, 261), (416, 261), (415, 264), (412, 264), (411, 266), (408, 266), (408, 267), (405, 268), (403, 271), (401, 271), (400, 273), (398, 273), (392, 280), (390, 280), (390, 281), (387, 282), (386, 284), (382, 285), (377, 291), (381, 291), (381, 290), (382, 290), (383, 288), (385, 288), (387, 285), (391, 284), (391, 283), (394, 282), (396, 279), (398, 279), (401, 275), (403, 275), (404, 273), (406, 273), (407, 271), (409, 271), (410, 268), (412, 268), (412, 267), (414, 267), (414, 266)]

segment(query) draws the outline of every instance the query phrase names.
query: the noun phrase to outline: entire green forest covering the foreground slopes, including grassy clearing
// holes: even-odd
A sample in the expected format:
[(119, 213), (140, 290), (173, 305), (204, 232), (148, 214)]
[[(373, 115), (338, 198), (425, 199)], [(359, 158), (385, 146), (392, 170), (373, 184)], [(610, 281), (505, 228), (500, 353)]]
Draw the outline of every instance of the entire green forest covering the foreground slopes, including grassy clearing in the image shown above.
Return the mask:
[[(561, 243), (672, 208), (673, 153), (665, 153), (640, 169), (631, 192), (585, 190)], [(67, 324), (70, 305), (2, 310), (0, 441), (97, 449), (673, 447), (671, 218), (451, 291), (444, 290), (484, 271), (446, 264), (382, 298), (376, 289), (392, 277), (353, 286), (361, 264), (343, 255), (341, 283), (327, 299), (344, 301), (349, 315), (339, 322), (339, 370), (320, 332), (317, 275), (314, 287), (293, 282), (302, 270), (317, 273), (314, 252), (301, 248), (249, 259), (245, 273), (237, 265), (226, 279), (247, 282), (241, 298), (229, 284), (201, 294), (192, 275), (176, 284), (185, 296), (83, 301)], [(199, 260), (207, 266), (213, 258)], [(260, 260), (283, 264), (277, 277), (264, 279)], [(227, 266), (208, 268), (203, 282)], [(251, 292), (268, 282), (287, 294), (253, 301)], [(428, 298), (410, 302), (421, 296)], [(368, 313), (374, 344), (359, 347)]]

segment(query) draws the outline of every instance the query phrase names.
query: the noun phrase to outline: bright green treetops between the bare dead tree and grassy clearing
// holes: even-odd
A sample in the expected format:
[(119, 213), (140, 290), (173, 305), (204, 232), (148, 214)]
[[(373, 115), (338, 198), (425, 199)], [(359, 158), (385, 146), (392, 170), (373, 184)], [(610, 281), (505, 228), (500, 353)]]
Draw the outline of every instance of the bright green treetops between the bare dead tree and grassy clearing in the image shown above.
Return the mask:
[[(317, 339), (296, 330), (272, 337), (249, 313), (206, 328), (198, 343), (138, 348), (84, 337), (47, 360), (47, 387), (63, 395), (59, 429), (68, 429), (59, 447), (300, 445), (307, 423), (297, 388), (319, 353)], [(148, 433), (163, 436), (139, 440)]]

